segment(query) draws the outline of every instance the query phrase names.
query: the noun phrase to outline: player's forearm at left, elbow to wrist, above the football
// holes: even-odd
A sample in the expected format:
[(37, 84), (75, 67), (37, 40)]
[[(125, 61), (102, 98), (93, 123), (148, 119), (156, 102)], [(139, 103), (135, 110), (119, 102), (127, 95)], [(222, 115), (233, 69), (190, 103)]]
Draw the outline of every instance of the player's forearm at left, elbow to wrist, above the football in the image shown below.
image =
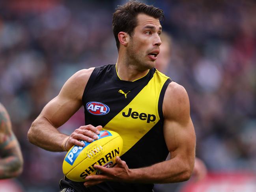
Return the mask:
[(44, 117), (38, 117), (28, 131), (29, 142), (47, 151), (64, 151), (62, 144), (66, 138)]

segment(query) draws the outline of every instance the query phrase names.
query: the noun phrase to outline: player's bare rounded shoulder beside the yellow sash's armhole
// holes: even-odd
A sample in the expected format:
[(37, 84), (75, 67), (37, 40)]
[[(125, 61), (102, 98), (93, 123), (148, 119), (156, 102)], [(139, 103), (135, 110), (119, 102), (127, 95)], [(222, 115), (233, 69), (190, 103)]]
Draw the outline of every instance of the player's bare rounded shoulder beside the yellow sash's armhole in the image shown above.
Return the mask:
[(164, 94), (164, 117), (181, 118), (190, 116), (189, 96), (186, 89), (176, 82), (170, 82)]

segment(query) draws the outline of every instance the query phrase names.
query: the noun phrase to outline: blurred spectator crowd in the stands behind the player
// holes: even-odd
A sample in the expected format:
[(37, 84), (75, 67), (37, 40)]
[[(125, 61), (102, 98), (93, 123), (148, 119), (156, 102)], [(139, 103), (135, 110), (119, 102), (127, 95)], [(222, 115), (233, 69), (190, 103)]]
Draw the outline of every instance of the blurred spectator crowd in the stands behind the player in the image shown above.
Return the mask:
[[(58, 190), (65, 153), (30, 144), (28, 129), (73, 73), (116, 62), (112, 13), (125, 2), (0, 0), (0, 102), (21, 144), (25, 164), (16, 181), (24, 191)], [(166, 75), (189, 94), (197, 157), (212, 172), (255, 173), (255, 1), (144, 2), (164, 10), (173, 44)], [(81, 109), (60, 130), (83, 124)]]

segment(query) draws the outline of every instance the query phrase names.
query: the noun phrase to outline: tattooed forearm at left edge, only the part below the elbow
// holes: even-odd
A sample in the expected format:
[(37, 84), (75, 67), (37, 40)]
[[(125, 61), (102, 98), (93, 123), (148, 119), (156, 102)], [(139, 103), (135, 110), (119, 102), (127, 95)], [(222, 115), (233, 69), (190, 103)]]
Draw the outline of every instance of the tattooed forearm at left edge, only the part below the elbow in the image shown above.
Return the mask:
[(22, 165), (20, 158), (15, 156), (0, 159), (0, 179), (17, 177), (22, 172)]

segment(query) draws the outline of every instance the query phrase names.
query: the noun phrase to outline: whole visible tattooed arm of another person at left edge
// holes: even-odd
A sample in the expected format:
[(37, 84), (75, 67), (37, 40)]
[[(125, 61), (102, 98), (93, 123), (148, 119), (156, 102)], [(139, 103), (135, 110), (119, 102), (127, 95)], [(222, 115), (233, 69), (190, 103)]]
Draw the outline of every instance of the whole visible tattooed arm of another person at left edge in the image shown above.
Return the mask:
[(11, 129), (9, 115), (0, 103), (0, 179), (17, 177), (22, 166), (20, 145)]

